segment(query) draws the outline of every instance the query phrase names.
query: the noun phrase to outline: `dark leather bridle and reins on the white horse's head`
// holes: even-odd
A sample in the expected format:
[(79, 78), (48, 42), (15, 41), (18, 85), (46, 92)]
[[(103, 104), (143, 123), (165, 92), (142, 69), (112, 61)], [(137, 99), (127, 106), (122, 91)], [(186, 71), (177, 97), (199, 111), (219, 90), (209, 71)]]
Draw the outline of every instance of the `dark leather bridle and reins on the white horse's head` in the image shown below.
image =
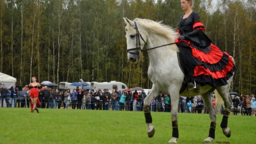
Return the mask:
[[(140, 38), (143, 40), (144, 44), (146, 44), (146, 42), (143, 39), (143, 37), (141, 36), (141, 34), (139, 33), (138, 27), (137, 27), (137, 23), (135, 21), (134, 21), (134, 25), (135, 25), (134, 29), (136, 30), (136, 35), (135, 35), (136, 36), (136, 47), (135, 48), (130, 48), (130, 49), (127, 50), (127, 52), (130, 53), (130, 54), (137, 54), (137, 55), (139, 55), (140, 53), (146, 52), (148, 50), (152, 50), (152, 49), (155, 49), (155, 48), (158, 48), (158, 47), (163, 47), (163, 46), (166, 46), (166, 45), (173, 45), (173, 44), (175, 44), (175, 43), (170, 43), (170, 44), (155, 46), (155, 47), (143, 50), (143, 49), (141, 49), (141, 46), (140, 46)], [(130, 51), (133, 51), (133, 50), (137, 50), (137, 53), (130, 52)]]

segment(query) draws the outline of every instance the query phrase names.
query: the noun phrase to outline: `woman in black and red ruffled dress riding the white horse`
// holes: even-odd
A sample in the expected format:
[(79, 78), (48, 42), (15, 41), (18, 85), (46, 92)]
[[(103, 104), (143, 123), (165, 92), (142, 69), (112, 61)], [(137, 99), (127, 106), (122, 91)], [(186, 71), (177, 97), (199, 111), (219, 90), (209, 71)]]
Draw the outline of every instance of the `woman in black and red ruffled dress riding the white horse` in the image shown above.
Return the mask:
[(198, 84), (219, 87), (226, 85), (236, 66), (228, 53), (222, 52), (203, 33), (205, 30), (197, 12), (192, 10), (193, 0), (181, 0), (181, 7), (185, 14), (179, 19), (178, 45), (184, 74), (189, 88), (199, 92)]

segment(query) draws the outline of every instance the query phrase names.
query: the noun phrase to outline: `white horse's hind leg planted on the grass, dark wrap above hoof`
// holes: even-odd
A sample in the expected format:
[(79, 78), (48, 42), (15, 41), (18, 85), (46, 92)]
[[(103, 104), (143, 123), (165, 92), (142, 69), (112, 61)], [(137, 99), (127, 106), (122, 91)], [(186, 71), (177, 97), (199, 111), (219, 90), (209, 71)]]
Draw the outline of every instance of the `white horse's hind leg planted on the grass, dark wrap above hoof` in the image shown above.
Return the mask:
[(210, 130), (208, 138), (204, 140), (204, 142), (212, 142), (215, 139), (215, 127), (216, 127), (216, 111), (213, 108), (212, 105), (212, 98), (211, 98), (212, 92), (207, 92), (202, 95), (203, 103), (207, 110), (209, 111), (210, 115)]

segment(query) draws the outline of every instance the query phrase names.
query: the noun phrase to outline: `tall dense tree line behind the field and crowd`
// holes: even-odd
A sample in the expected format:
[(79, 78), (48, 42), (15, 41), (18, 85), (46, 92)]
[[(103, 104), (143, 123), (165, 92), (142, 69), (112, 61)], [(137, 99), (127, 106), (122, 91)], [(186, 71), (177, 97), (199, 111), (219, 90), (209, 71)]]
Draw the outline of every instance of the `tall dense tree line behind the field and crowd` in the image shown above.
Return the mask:
[[(194, 0), (213, 44), (236, 60), (232, 91), (256, 86), (255, 0)], [(121, 81), (150, 89), (147, 54), (127, 60), (123, 18), (177, 28), (180, 0), (0, 0), (0, 71), (18, 85), (37, 81)]]

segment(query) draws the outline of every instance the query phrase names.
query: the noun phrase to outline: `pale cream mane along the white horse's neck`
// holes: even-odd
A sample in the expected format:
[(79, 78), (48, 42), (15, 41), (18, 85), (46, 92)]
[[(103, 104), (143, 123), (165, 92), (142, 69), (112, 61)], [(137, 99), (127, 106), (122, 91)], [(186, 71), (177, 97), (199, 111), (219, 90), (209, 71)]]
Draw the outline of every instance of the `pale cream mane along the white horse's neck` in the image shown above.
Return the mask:
[[(141, 18), (135, 18), (134, 21), (137, 21), (141, 27), (144, 27), (157, 35), (167, 38), (170, 43), (173, 43), (174, 39), (178, 36), (177, 32), (172, 27), (163, 24), (163, 21), (155, 22), (150, 19)], [(176, 46), (174, 50), (178, 51)]]

